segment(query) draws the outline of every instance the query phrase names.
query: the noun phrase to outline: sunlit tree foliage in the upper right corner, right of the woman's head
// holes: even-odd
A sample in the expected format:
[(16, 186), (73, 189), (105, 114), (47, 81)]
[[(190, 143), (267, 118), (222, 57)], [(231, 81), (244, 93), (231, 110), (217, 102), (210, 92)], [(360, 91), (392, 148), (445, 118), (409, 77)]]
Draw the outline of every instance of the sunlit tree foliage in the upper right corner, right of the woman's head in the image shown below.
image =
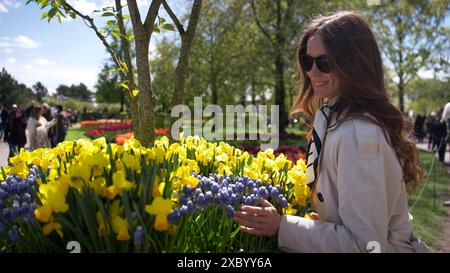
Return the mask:
[[(448, 1), (381, 1), (367, 11), (380, 40), (381, 50), (396, 79), (398, 103), (403, 112), (404, 96), (420, 69), (430, 66), (432, 56), (448, 49)], [(448, 61), (448, 52), (446, 59)]]

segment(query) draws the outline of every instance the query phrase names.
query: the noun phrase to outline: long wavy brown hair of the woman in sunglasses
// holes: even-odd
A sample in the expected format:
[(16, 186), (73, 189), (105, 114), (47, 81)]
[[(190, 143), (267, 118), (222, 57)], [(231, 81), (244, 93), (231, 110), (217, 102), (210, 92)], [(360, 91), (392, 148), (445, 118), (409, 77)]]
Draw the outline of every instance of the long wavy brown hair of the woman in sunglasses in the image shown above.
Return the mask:
[(302, 112), (313, 117), (323, 103), (323, 99), (314, 96), (311, 80), (299, 62), (313, 35), (320, 35), (333, 77), (337, 79), (339, 95), (332, 110), (338, 123), (358, 117), (380, 126), (400, 161), (408, 191), (413, 192), (424, 173), (415, 142), (411, 139), (412, 122), (390, 102), (375, 36), (368, 23), (355, 12), (319, 16), (307, 25), (297, 51), (302, 84), (291, 115)]

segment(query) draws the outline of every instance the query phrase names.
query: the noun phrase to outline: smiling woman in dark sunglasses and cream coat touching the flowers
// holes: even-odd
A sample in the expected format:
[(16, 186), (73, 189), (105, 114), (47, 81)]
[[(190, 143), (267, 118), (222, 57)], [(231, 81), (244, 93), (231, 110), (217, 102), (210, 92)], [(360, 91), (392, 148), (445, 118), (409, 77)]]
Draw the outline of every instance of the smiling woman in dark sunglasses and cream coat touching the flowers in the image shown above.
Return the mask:
[(388, 98), (368, 24), (353, 12), (320, 16), (297, 52), (302, 86), (291, 113), (313, 116), (307, 179), (314, 220), (282, 215), (266, 200), (244, 206), (241, 231), (276, 236), (287, 252), (422, 252), (407, 188), (423, 172), (412, 126)]

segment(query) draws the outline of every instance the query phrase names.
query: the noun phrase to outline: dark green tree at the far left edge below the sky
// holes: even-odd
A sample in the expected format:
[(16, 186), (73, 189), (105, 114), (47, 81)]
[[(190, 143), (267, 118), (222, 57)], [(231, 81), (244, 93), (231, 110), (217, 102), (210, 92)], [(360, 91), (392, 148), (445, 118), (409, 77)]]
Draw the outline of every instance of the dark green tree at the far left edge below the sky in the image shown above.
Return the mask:
[(2, 68), (0, 72), (0, 102), (3, 105), (10, 107), (12, 104), (17, 104), (26, 107), (29, 101), (35, 98), (36, 96), (30, 88), (19, 83), (5, 68)]

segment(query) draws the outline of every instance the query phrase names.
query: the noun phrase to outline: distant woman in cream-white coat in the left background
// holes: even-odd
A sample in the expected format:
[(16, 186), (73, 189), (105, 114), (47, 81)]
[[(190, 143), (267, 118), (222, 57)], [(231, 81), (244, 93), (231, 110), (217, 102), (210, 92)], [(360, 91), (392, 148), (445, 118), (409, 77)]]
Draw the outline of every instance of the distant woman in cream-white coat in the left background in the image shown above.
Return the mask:
[(39, 148), (50, 148), (50, 140), (48, 139), (48, 129), (56, 124), (56, 120), (48, 122), (42, 116), (42, 108), (35, 106), (31, 112), (27, 124), (27, 147), (33, 151)]

